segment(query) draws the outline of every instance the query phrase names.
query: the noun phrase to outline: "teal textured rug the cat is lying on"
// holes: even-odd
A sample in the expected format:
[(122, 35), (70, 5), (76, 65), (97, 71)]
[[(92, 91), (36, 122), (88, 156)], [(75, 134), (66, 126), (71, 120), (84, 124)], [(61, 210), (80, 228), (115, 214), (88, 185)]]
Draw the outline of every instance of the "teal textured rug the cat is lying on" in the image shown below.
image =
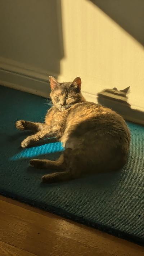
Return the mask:
[(61, 143), (22, 149), (28, 131), (19, 119), (44, 121), (44, 98), (0, 86), (0, 193), (46, 211), (144, 244), (144, 127), (128, 123), (131, 147), (126, 166), (116, 172), (60, 184), (42, 184), (48, 173), (29, 167), (31, 158), (58, 158)]

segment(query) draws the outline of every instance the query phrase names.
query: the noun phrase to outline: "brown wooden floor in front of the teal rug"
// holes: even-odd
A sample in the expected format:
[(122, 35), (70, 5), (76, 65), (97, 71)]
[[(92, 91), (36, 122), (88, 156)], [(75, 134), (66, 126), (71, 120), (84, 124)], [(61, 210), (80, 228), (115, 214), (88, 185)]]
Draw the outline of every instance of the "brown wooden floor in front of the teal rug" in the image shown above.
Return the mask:
[(0, 196), (0, 256), (144, 256), (144, 247)]

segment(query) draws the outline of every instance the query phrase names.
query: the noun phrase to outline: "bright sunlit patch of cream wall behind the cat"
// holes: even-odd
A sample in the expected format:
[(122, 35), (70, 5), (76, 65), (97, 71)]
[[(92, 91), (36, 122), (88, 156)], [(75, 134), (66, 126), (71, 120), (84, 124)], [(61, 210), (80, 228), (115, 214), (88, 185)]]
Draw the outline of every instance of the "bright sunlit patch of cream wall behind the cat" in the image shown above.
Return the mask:
[(143, 46), (91, 1), (62, 0), (64, 58), (60, 81), (80, 76), (82, 91), (130, 86), (129, 103), (144, 108)]

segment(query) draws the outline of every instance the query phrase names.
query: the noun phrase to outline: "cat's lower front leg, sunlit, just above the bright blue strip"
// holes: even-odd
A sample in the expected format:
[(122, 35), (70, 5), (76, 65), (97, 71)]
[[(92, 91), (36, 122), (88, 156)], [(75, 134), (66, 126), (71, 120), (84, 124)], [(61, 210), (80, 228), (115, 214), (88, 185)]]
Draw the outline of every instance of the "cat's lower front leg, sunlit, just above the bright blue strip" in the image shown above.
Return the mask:
[(33, 143), (38, 142), (39, 140), (48, 139), (56, 136), (56, 133), (53, 133), (50, 130), (39, 131), (38, 133), (28, 136), (26, 139), (24, 139), (21, 143), (21, 147), (26, 148)]

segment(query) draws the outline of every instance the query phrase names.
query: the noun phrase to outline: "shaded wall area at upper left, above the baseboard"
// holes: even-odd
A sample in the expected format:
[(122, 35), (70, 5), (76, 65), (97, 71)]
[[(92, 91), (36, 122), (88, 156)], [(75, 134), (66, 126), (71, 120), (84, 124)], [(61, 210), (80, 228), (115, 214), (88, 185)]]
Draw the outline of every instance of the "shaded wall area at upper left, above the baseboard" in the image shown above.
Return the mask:
[(1, 0), (0, 56), (59, 73), (63, 58), (60, 1)]

